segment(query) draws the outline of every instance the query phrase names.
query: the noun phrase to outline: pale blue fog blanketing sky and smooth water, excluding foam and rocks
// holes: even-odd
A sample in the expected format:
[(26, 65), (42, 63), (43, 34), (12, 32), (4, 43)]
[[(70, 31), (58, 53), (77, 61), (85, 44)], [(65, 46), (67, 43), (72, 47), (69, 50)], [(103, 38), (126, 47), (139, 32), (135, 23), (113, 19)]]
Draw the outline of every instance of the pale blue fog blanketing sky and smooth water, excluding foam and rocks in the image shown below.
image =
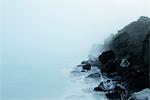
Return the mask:
[(93, 44), (150, 16), (149, 0), (1, 0), (0, 7), (2, 100), (61, 97), (63, 69), (86, 59)]

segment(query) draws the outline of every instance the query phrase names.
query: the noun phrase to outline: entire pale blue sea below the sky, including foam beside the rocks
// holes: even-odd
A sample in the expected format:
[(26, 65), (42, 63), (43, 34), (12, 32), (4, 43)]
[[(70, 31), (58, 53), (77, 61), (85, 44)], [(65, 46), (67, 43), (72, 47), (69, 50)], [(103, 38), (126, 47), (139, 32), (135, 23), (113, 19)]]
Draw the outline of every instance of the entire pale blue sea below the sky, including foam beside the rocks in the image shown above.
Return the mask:
[(1, 50), (1, 100), (95, 100), (92, 92), (83, 91), (89, 86), (82, 78), (74, 82), (70, 77), (69, 69), (86, 53), (51, 52), (7, 41)]

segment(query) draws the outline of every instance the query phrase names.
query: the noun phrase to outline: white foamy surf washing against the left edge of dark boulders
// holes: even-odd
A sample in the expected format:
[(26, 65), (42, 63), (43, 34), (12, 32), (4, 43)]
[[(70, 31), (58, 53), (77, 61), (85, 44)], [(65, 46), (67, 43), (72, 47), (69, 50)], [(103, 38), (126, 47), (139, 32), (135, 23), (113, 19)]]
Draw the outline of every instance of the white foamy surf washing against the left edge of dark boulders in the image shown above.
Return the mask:
[(104, 93), (93, 91), (94, 87), (101, 82), (101, 78), (85, 78), (93, 72), (98, 72), (98, 69), (92, 67), (90, 71), (81, 72), (80, 68), (74, 68), (70, 73), (63, 100), (107, 100)]

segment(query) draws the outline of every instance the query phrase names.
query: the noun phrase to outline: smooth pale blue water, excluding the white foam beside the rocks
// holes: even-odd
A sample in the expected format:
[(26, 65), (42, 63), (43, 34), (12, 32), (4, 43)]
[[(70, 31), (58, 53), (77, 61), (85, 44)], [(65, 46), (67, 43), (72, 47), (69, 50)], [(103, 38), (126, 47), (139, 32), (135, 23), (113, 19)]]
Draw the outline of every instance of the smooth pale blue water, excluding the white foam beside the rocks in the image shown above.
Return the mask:
[(72, 66), (71, 57), (65, 59), (57, 54), (49, 55), (38, 50), (27, 52), (27, 48), (5, 46), (2, 55), (2, 100), (63, 96), (69, 76), (65, 76), (62, 70)]

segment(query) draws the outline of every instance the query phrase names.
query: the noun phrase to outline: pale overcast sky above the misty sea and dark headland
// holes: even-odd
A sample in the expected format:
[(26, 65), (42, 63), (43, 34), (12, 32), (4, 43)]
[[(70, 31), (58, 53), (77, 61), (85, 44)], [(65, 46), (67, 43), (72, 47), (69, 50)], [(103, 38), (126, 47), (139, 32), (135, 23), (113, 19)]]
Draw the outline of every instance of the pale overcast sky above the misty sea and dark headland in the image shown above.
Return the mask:
[(139, 16), (148, 16), (148, 1), (2, 0), (3, 33), (28, 38), (29, 44), (47, 42), (54, 50), (89, 48)]

